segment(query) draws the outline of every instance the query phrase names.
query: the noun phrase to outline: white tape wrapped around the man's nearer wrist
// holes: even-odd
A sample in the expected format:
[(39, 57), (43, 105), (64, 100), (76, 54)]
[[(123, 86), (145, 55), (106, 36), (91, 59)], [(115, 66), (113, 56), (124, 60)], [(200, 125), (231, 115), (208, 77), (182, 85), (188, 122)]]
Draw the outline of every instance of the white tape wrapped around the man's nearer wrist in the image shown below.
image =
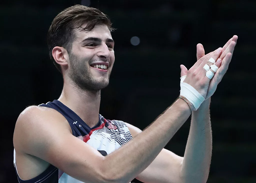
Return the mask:
[(204, 102), (205, 98), (191, 85), (184, 83), (186, 76), (180, 78), (180, 95), (184, 96), (197, 110)]

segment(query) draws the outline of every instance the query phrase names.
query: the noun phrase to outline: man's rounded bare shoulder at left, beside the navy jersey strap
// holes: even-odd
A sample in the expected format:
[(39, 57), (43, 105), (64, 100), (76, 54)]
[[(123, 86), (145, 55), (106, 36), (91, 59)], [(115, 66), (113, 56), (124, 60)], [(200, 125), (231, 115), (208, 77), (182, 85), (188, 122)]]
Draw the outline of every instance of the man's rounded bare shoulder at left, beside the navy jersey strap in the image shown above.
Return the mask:
[(56, 130), (71, 131), (69, 124), (63, 123), (63, 120), (66, 120), (65, 117), (52, 108), (27, 107), (16, 121), (13, 135), (15, 150), (26, 152)]

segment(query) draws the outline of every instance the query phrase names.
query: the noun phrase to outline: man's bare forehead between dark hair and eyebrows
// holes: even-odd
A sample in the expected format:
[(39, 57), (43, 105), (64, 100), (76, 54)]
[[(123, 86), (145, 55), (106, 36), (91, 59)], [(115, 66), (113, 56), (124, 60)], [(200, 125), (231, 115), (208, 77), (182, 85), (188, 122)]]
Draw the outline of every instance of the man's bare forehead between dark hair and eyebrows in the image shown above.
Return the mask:
[[(86, 24), (82, 27), (85, 26)], [(91, 31), (77, 29), (75, 33), (79, 41), (82, 41), (89, 37), (100, 38), (102, 40), (112, 39), (109, 28), (106, 25), (95, 25), (95, 27)]]

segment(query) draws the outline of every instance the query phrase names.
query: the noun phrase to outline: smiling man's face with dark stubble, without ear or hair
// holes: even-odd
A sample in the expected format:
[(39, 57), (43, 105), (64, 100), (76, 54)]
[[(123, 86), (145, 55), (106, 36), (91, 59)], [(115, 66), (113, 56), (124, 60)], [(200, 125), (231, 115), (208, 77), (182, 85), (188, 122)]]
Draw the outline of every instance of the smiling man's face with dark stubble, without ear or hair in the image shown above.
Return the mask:
[(91, 31), (74, 30), (68, 75), (82, 90), (97, 91), (109, 84), (115, 61), (114, 41), (106, 25)]

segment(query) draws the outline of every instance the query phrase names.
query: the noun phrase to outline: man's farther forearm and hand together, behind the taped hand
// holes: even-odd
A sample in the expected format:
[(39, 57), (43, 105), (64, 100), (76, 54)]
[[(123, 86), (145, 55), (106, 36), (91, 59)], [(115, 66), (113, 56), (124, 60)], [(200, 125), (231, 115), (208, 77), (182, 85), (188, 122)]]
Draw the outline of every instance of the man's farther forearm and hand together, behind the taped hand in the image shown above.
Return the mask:
[[(215, 92), (217, 85), (228, 69), (232, 53), (237, 42), (234, 35), (224, 46), (220, 56), (221, 66), (210, 81), (207, 96), (197, 111), (193, 111), (188, 141), (182, 163), (182, 175), (185, 182), (206, 182), (211, 162), (212, 133), (210, 121), (210, 96)], [(207, 54), (208, 55), (208, 54)], [(197, 45), (197, 59), (206, 57), (202, 45)], [(184, 70), (181, 76), (186, 75)]]

